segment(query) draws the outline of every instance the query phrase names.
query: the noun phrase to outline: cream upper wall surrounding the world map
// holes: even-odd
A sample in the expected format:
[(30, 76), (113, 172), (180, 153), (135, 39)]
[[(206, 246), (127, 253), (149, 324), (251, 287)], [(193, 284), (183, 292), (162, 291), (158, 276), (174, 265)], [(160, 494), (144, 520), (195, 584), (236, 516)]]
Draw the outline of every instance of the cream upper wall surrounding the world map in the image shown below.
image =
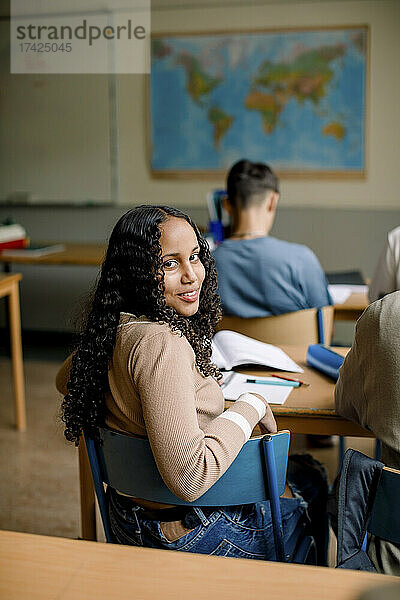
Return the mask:
[[(175, 5), (176, 6), (176, 5)], [(370, 26), (367, 103), (367, 176), (364, 180), (282, 181), (281, 205), (341, 208), (400, 206), (400, 2), (399, 0), (298, 2), (243, 7), (158, 10), (153, 32), (265, 29), (324, 25)], [(201, 206), (223, 180), (153, 179), (148, 152), (148, 78), (119, 78), (121, 204), (165, 202)]]

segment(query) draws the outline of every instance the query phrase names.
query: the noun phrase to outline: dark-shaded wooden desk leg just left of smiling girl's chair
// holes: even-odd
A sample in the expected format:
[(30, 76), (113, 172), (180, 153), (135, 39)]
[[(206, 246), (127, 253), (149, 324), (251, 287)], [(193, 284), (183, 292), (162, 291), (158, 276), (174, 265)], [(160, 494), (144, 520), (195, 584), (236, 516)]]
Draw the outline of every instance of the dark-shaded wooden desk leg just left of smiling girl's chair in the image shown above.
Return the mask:
[(79, 484), (81, 493), (81, 528), (84, 540), (96, 541), (96, 504), (90, 464), (83, 437), (79, 442)]

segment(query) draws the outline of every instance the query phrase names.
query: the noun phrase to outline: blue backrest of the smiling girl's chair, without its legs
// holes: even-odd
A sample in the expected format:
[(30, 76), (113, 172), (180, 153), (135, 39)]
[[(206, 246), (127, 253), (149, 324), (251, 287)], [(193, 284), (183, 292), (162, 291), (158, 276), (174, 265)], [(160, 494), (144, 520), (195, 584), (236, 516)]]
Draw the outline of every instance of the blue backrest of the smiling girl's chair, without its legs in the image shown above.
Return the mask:
[(100, 435), (102, 444), (97, 446), (97, 456), (103, 483), (128, 496), (184, 506), (231, 506), (268, 500), (264, 481), (265, 445), (274, 452), (278, 494), (283, 494), (285, 489), (288, 431), (251, 438), (222, 477), (192, 503), (178, 498), (165, 485), (147, 438), (132, 437), (111, 429), (100, 429)]

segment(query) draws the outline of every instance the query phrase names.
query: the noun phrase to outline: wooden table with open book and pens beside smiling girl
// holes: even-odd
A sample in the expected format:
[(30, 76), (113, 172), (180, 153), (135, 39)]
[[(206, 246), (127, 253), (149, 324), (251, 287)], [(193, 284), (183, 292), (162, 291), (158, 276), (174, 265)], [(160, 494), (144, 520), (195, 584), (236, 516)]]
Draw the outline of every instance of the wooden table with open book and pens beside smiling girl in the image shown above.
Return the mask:
[[(295, 388), (283, 405), (271, 404), (278, 429), (289, 429), (291, 433), (314, 433), (319, 435), (343, 435), (373, 437), (370, 431), (363, 429), (340, 417), (335, 412), (334, 382), (329, 377), (308, 367), (305, 358), (306, 346), (281, 346), (281, 348), (304, 369), (304, 373), (288, 373), (289, 377), (300, 377), (310, 383), (310, 387)], [(336, 348), (345, 355), (348, 348)], [(247, 370), (254, 375), (268, 375), (274, 370)], [(89, 461), (83, 440), (79, 444), (79, 481), (81, 498), (82, 537), (85, 540), (96, 539), (95, 497)]]

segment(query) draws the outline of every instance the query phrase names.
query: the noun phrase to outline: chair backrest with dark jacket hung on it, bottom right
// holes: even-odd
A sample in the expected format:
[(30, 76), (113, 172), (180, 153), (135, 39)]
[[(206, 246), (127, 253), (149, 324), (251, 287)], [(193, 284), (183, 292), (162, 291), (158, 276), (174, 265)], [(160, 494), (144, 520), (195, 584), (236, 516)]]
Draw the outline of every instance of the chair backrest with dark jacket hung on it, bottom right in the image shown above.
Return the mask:
[(400, 471), (347, 450), (338, 490), (338, 567), (375, 570), (366, 533), (400, 544)]

